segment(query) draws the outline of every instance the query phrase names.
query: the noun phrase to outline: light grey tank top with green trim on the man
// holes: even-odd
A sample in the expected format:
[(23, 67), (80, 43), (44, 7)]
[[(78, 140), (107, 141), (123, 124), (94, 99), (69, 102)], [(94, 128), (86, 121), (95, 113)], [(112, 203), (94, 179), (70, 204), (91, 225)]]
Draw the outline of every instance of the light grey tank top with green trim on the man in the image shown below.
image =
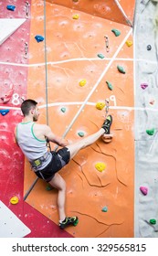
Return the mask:
[[(47, 153), (47, 141), (37, 139), (34, 133), (34, 122), (18, 123), (16, 127), (16, 140), (22, 152), (31, 163), (33, 160)], [(51, 153), (47, 155), (47, 159), (36, 170), (45, 168), (51, 161)]]

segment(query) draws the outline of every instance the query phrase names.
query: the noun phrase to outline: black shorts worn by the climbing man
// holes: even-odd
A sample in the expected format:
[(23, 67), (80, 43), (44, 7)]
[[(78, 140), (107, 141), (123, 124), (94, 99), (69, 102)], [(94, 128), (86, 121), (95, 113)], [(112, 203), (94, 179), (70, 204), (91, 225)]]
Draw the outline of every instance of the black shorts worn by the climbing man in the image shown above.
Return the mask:
[(44, 169), (37, 171), (36, 175), (49, 182), (55, 174), (65, 165), (68, 164), (70, 153), (67, 147), (59, 149), (57, 152), (51, 151), (52, 160)]

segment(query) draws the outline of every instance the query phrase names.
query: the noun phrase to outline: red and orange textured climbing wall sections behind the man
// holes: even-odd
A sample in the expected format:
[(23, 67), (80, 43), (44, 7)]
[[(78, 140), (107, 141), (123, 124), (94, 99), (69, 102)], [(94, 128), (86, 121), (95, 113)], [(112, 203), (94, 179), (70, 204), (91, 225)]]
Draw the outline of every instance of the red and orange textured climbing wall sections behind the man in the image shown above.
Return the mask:
[[(26, 17), (25, 1), (15, 0), (14, 12), (6, 10), (10, 1), (6, 2), (1, 3), (1, 17)], [(9, 109), (5, 116), (0, 115), (1, 200), (31, 229), (29, 237), (134, 235), (133, 47), (127, 45), (127, 41), (132, 42), (132, 27), (127, 26), (115, 1), (94, 1), (93, 5), (88, 0), (87, 5), (83, 2), (68, 1), (65, 5), (65, 1), (46, 1), (44, 16), (44, 1), (29, 1), (26, 22), (0, 48), (0, 109)], [(132, 21), (134, 1), (130, 5), (126, 1), (119, 3)], [(112, 29), (121, 34), (115, 36)], [(37, 35), (44, 40), (37, 42)], [(124, 74), (119, 72), (118, 65), (125, 70)], [(86, 81), (84, 86), (79, 85), (81, 80)], [(106, 81), (111, 83), (111, 89)], [(4, 102), (8, 91), (10, 100)], [(21, 98), (37, 100), (39, 122), (48, 122), (54, 133), (67, 133), (66, 137), (74, 142), (81, 139), (79, 133), (86, 137), (98, 131), (105, 107), (98, 110), (96, 103), (110, 101), (111, 144), (99, 140), (80, 151), (60, 171), (67, 182), (68, 215), (79, 216), (78, 226), (68, 228), (67, 232), (56, 225), (55, 189), (48, 190), (47, 184), (38, 180), (23, 201), (36, 176), (26, 160), (24, 163), (13, 137), (14, 127), (22, 119)], [(95, 166), (100, 162), (105, 165), (102, 172)], [(13, 196), (19, 198), (15, 206), (9, 202)]]

